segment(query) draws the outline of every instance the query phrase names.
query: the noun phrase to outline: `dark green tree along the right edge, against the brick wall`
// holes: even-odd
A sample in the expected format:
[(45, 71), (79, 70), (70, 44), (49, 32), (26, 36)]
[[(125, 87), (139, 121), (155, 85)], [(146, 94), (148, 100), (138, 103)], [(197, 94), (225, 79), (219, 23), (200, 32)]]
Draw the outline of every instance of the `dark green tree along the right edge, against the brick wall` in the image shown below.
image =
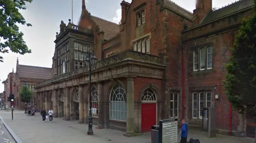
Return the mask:
[(231, 48), (230, 61), (226, 65), (227, 73), (224, 87), (234, 110), (244, 116), (249, 114), (256, 119), (255, 4), (256, 0), (254, 0), (253, 16), (242, 21), (238, 35)]

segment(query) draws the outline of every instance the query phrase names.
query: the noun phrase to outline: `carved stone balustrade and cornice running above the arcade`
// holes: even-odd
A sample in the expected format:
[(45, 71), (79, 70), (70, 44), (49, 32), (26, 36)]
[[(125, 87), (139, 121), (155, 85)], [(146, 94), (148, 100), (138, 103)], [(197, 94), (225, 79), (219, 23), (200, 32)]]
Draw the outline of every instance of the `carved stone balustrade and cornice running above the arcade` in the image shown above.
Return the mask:
[[(165, 68), (161, 57), (128, 50), (112, 57), (97, 61), (92, 67), (92, 82), (142, 76), (162, 79)], [(89, 81), (89, 67), (81, 67), (36, 84), (37, 91), (86, 84)], [(46, 87), (47, 86), (47, 87)], [(42, 89), (44, 88), (44, 89)]]

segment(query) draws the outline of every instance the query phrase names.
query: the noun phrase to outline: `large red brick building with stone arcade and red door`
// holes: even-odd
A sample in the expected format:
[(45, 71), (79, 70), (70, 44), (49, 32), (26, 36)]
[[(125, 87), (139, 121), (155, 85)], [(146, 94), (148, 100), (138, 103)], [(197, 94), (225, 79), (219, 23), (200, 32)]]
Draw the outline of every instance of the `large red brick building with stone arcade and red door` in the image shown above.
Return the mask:
[(98, 58), (91, 88), (98, 128), (129, 136), (166, 118), (201, 128), (202, 108), (216, 107), (220, 132), (250, 136), (250, 119), (232, 110), (222, 80), (234, 36), (252, 6), (253, 0), (240, 0), (213, 11), (212, 0), (198, 0), (191, 13), (170, 0), (122, 1), (121, 22), (114, 24), (92, 16), (82, 0), (79, 24), (62, 21), (56, 35), (55, 77), (36, 84), (40, 109), (87, 122), (89, 72), (83, 60), (92, 51)]

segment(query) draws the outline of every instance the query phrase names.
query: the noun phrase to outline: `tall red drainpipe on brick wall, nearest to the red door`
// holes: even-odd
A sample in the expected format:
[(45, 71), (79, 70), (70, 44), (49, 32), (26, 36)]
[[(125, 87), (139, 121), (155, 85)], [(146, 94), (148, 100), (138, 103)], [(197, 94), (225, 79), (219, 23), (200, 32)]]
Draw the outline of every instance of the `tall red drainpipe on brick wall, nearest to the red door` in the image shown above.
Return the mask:
[(181, 118), (184, 119), (184, 87), (185, 87), (185, 60), (184, 47), (182, 47), (182, 91), (181, 91)]

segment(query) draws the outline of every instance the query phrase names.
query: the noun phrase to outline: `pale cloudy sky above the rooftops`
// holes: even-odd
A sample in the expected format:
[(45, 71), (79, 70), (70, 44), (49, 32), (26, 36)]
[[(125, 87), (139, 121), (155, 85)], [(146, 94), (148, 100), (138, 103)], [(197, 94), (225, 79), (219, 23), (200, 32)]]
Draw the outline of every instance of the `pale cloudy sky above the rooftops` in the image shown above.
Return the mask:
[[(93, 15), (105, 20), (118, 23), (121, 19), (122, 0), (85, 0), (86, 9)], [(131, 2), (132, 0), (126, 0)], [(150, 1), (150, 0), (148, 0)], [(182, 8), (193, 12), (196, 0), (172, 0)], [(235, 0), (212, 0), (213, 7), (221, 8), (231, 4)], [(24, 33), (24, 41), (32, 53), (18, 55), (16, 53), (0, 53), (4, 62), (0, 62), (0, 83), (7, 78), (9, 72), (16, 71), (17, 57), (19, 64), (40, 67), (52, 67), (54, 54), (54, 40), (56, 32), (60, 30), (60, 21), (68, 24), (72, 18), (72, 0), (34, 0), (26, 4), (27, 10), (20, 11), (27, 23), (32, 27), (19, 25)], [(73, 1), (73, 23), (78, 24), (82, 11), (82, 0)], [(4, 91), (4, 85), (0, 84), (0, 93)]]

